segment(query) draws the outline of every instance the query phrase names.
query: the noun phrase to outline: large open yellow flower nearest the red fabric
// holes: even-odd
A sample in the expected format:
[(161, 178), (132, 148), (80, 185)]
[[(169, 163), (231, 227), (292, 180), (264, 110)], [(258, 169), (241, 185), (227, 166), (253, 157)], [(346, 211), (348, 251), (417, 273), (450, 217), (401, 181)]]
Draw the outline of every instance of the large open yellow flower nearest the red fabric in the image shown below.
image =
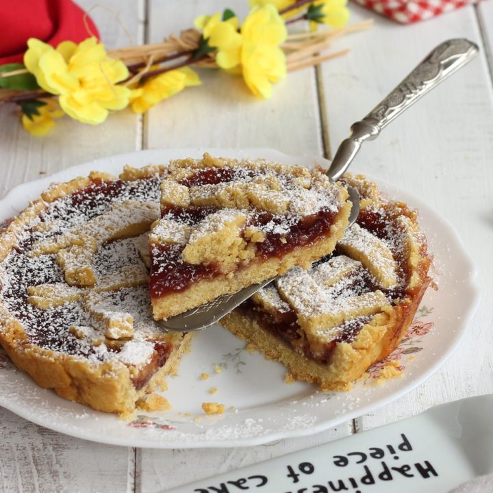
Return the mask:
[(109, 110), (123, 110), (128, 105), (129, 88), (116, 85), (127, 79), (128, 69), (120, 60), (110, 58), (96, 38), (79, 45), (64, 41), (56, 49), (31, 38), (27, 46), (27, 70), (41, 88), (60, 96), (60, 106), (72, 118), (97, 125), (105, 121)]

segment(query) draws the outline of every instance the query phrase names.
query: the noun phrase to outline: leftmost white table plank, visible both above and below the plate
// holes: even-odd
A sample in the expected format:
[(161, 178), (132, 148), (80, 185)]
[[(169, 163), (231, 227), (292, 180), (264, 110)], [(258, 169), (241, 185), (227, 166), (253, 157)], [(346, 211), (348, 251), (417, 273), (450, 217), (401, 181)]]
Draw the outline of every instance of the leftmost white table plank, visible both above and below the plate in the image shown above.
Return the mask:
[[(79, 0), (86, 9), (92, 0)], [(91, 15), (106, 47), (142, 41), (144, 0), (101, 0)], [(118, 21), (119, 19), (119, 21)], [(121, 24), (130, 38), (127, 37)], [(100, 127), (58, 123), (47, 137), (23, 130), (14, 108), (1, 108), (0, 197), (10, 188), (97, 157), (140, 149), (138, 121), (129, 110)], [(105, 446), (33, 425), (0, 408), (0, 492), (134, 492), (134, 448)]]

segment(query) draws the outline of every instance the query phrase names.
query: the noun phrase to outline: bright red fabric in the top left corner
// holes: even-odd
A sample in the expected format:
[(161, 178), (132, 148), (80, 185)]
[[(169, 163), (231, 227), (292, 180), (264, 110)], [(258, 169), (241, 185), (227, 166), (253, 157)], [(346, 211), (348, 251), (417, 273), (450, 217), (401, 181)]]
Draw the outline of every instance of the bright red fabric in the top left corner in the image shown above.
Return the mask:
[(0, 65), (22, 63), (26, 42), (38, 38), (56, 47), (66, 40), (81, 42), (99, 32), (84, 10), (71, 0), (0, 0)]

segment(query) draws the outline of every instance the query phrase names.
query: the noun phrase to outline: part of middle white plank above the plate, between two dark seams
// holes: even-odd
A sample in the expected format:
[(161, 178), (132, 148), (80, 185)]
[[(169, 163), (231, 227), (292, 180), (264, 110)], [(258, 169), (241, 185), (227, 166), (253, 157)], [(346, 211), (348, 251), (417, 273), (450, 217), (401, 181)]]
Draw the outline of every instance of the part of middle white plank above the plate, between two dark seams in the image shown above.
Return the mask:
[[(199, 14), (227, 6), (243, 17), (248, 2), (152, 0), (151, 42), (191, 27)], [(314, 71), (291, 73), (272, 99), (249, 93), (240, 77), (203, 70), (203, 85), (187, 88), (149, 111), (147, 144), (160, 147), (270, 147), (286, 153), (321, 151)]]

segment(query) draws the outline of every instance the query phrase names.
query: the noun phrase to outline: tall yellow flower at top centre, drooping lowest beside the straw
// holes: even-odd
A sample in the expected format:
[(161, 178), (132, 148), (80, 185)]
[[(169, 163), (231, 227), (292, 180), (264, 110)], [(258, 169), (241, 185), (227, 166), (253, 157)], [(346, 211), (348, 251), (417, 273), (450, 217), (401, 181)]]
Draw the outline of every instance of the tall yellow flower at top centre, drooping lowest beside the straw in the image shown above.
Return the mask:
[(286, 25), (272, 4), (254, 7), (241, 29), (244, 81), (255, 95), (269, 98), (273, 82), (286, 77), (286, 55), (279, 45), (286, 40)]

